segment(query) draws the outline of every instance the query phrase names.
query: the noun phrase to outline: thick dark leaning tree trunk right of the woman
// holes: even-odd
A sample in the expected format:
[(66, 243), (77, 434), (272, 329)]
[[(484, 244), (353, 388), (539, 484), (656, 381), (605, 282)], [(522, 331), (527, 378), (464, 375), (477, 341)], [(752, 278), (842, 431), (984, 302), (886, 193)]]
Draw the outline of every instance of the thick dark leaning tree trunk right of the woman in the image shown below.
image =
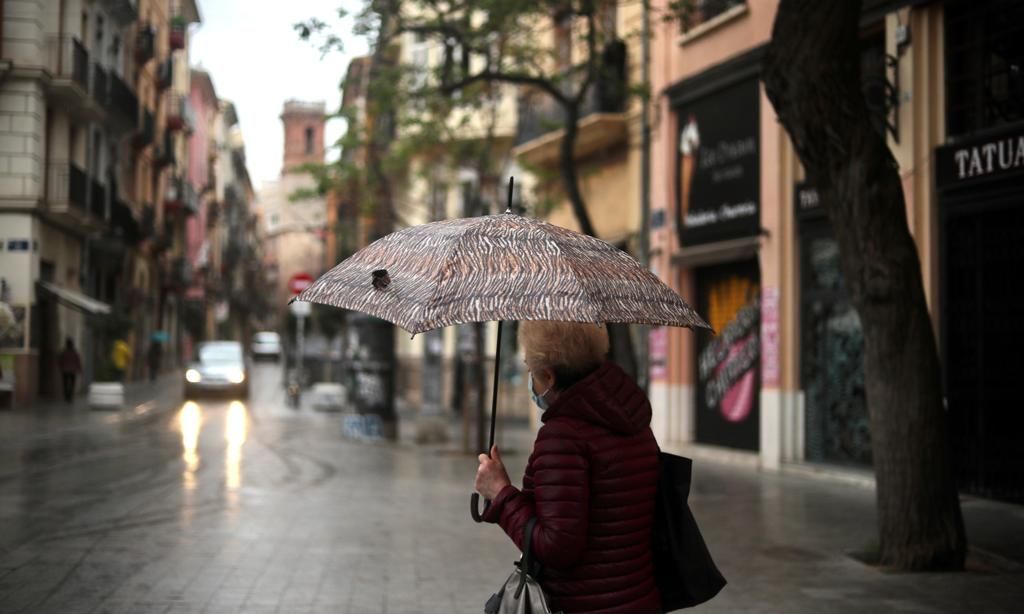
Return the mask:
[(881, 564), (963, 569), (938, 351), (897, 163), (861, 92), (859, 16), (860, 2), (781, 0), (765, 89), (831, 220), (863, 326)]

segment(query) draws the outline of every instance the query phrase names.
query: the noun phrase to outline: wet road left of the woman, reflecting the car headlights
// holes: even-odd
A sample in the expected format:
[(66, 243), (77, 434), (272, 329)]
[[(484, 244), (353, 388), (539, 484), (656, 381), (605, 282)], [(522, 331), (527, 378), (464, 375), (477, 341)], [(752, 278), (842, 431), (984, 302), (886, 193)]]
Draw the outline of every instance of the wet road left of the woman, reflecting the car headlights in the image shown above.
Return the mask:
[(518, 552), (468, 517), (475, 461), (345, 440), (280, 382), (259, 365), (249, 403), (75, 433), (0, 480), (0, 612), (480, 610)]

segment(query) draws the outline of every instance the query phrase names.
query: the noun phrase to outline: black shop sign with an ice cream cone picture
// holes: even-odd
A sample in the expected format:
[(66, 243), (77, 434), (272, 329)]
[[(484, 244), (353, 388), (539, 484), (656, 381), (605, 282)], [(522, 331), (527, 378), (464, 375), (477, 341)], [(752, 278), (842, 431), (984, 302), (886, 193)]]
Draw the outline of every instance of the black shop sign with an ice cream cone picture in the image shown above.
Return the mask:
[(758, 80), (752, 78), (677, 107), (676, 223), (681, 245), (759, 232), (759, 101)]

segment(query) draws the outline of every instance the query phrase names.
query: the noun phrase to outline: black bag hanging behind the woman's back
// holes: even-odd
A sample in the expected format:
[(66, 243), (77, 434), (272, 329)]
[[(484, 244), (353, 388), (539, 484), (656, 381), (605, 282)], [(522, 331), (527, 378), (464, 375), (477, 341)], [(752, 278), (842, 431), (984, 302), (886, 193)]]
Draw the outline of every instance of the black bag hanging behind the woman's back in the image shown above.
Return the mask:
[(658, 466), (651, 550), (662, 610), (671, 612), (715, 597), (725, 586), (725, 578), (715, 566), (686, 502), (693, 462), (660, 452)]

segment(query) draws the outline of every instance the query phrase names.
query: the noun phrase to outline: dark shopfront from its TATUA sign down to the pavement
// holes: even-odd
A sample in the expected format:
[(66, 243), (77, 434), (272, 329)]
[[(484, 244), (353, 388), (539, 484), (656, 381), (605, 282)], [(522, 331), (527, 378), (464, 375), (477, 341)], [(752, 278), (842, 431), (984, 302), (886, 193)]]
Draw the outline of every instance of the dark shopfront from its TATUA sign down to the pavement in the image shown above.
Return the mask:
[(1024, 501), (1024, 126), (936, 150), (942, 355), (961, 488)]

